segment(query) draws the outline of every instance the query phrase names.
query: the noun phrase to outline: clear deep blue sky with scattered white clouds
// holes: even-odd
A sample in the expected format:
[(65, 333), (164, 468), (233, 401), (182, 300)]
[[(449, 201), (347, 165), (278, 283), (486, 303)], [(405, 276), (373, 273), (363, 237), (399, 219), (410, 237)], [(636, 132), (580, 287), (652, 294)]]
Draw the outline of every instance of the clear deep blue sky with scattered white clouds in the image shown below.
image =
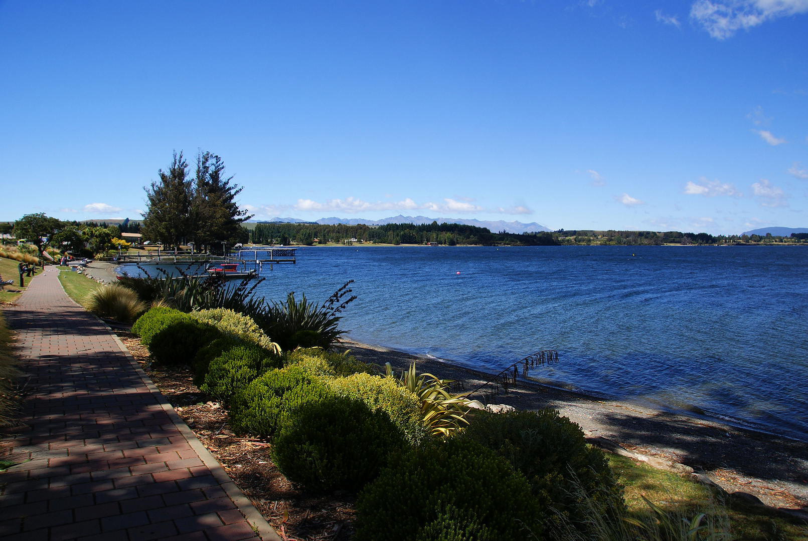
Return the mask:
[(0, 104), (0, 220), (204, 149), (259, 219), (808, 226), (808, 0), (0, 2)]

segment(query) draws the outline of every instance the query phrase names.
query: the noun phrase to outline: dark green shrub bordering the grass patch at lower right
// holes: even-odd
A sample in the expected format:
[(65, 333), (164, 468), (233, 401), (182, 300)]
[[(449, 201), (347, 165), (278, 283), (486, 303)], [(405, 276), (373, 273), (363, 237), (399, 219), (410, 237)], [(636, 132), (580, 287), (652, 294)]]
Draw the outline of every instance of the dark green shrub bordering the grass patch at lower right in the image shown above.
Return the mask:
[(623, 492), (603, 451), (587, 445), (580, 426), (555, 409), (539, 412), (478, 411), (464, 438), (503, 456), (528, 479), (543, 508), (553, 506), (574, 521), (583, 488), (600, 512), (623, 507)]

